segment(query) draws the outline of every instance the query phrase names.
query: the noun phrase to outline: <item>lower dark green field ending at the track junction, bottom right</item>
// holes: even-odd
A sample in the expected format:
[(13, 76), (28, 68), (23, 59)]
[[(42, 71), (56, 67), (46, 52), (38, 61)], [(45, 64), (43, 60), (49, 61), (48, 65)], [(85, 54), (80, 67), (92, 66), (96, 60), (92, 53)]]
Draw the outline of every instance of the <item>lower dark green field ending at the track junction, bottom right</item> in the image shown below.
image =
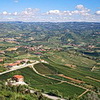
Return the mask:
[(58, 90), (63, 97), (68, 97), (68, 96), (73, 96), (73, 95), (80, 95), (83, 93), (85, 90), (81, 89), (79, 87), (67, 84), (67, 83), (62, 83), (62, 84), (54, 84), (54, 85), (45, 85), (45, 86), (39, 86), (36, 87), (38, 89), (44, 89), (44, 91), (56, 91)]

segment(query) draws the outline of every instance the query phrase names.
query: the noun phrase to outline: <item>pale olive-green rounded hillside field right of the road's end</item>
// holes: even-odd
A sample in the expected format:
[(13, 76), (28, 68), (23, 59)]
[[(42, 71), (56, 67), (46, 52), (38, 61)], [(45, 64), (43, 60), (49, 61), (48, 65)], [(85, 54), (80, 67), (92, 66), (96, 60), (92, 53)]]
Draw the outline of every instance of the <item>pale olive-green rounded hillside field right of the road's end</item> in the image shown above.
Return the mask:
[(51, 61), (57, 64), (74, 64), (76, 66), (92, 67), (96, 62), (94, 60), (82, 57), (82, 55), (74, 54), (73, 52), (57, 52), (48, 57)]

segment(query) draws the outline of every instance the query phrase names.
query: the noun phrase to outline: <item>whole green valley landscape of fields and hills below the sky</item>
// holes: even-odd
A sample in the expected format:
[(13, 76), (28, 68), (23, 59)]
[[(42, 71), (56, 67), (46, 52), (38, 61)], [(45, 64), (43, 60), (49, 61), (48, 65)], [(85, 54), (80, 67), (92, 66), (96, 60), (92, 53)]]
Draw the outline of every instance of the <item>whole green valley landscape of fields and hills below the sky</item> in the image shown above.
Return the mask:
[[(99, 38), (100, 23), (94, 22), (0, 22), (0, 98), (37, 100), (42, 93), (67, 100), (99, 98)], [(22, 75), (24, 89), (36, 94), (4, 88), (14, 75)]]

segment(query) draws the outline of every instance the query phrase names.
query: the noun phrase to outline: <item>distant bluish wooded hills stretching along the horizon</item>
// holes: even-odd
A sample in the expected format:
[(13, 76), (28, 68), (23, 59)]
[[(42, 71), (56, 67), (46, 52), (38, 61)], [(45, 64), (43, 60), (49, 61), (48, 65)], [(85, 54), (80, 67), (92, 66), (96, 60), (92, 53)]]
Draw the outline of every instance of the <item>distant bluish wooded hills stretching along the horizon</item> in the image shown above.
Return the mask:
[[(0, 38), (34, 38), (44, 44), (90, 44), (100, 43), (100, 23), (96, 22), (0, 22)], [(41, 43), (42, 43), (41, 42)]]

